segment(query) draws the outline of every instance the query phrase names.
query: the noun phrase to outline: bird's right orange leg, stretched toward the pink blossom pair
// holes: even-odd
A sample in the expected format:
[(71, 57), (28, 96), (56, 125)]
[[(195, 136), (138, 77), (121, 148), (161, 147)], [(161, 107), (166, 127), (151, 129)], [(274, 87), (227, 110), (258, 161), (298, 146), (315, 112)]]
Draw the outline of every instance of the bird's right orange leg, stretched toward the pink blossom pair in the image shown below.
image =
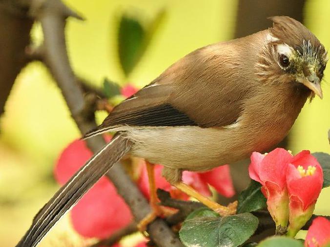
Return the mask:
[(185, 192), (187, 195), (194, 197), (208, 208), (219, 213), (220, 216), (228, 216), (236, 213), (237, 201), (230, 203), (227, 207), (225, 207), (208, 199), (206, 196), (200, 194), (198, 191), (194, 190), (189, 185), (186, 185), (184, 182), (175, 183), (174, 186), (177, 189)]

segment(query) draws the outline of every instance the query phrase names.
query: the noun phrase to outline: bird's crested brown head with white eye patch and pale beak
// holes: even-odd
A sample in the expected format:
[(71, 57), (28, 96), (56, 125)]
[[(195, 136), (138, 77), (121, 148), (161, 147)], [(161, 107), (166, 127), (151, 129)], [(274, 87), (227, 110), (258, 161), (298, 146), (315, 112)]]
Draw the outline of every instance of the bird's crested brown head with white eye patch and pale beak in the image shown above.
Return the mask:
[(309, 88), (310, 95), (323, 97), (321, 81), (328, 54), (320, 41), (299, 21), (277, 16), (269, 18), (265, 46), (256, 64), (256, 75), (271, 83), (291, 83)]

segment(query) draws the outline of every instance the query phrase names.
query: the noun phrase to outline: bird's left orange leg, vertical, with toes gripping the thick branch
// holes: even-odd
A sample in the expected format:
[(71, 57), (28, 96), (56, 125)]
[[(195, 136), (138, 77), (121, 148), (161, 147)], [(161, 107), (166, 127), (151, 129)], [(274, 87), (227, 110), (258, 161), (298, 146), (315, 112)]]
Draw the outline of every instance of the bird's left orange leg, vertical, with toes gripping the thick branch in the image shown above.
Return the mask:
[(154, 172), (154, 164), (145, 161), (146, 163), (146, 171), (148, 173), (148, 180), (149, 180), (149, 191), (150, 191), (150, 206), (152, 211), (144, 217), (138, 224), (139, 231), (145, 231), (147, 225), (153, 222), (157, 216), (167, 215), (173, 213), (169, 209), (162, 208), (158, 205), (158, 197), (157, 197), (157, 188), (155, 182), (155, 172)]

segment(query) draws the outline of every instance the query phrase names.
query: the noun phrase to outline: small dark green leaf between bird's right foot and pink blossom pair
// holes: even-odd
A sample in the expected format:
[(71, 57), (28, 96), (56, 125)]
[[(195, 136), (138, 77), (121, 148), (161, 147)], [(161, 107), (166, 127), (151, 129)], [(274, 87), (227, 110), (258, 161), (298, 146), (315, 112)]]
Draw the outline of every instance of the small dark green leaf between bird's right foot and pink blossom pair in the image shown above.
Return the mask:
[(237, 213), (252, 212), (267, 207), (266, 198), (261, 192), (261, 184), (251, 180), (247, 189), (238, 196)]

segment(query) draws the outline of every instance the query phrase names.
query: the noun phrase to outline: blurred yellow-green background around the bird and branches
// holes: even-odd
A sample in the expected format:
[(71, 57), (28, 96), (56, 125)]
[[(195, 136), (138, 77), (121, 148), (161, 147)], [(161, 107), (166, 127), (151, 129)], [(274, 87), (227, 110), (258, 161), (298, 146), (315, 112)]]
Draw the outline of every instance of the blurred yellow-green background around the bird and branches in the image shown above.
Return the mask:
[[(105, 89), (110, 85), (104, 83), (105, 78), (120, 85), (129, 82), (143, 87), (187, 53), (234, 38), (240, 13), (238, 0), (64, 2), (86, 18), (83, 22), (70, 19), (66, 28), (73, 69), (92, 85)], [(304, 23), (326, 48), (330, 47), (329, 13), (327, 0), (307, 0), (302, 10)], [(268, 21), (267, 25), (270, 24)], [(35, 43), (41, 42), (38, 23), (31, 35)], [(330, 80), (329, 71), (329, 68), (325, 71), (325, 80)], [(330, 152), (329, 82), (324, 82), (323, 90), (324, 99), (315, 98), (305, 105), (289, 135), (287, 148), (293, 153), (303, 149)], [(98, 114), (99, 120), (104, 116)], [(55, 160), (69, 142), (79, 137), (61, 92), (45, 66), (37, 61), (29, 63), (17, 77), (0, 118), (2, 247), (17, 243), (33, 215), (58, 189), (52, 173)], [(328, 188), (320, 196), (316, 213), (329, 214), (329, 199)], [(81, 246), (83, 240), (76, 235), (72, 237), (71, 232), (69, 221), (62, 220), (40, 246), (61, 246), (54, 242), (54, 236), (65, 239), (69, 234)]]

